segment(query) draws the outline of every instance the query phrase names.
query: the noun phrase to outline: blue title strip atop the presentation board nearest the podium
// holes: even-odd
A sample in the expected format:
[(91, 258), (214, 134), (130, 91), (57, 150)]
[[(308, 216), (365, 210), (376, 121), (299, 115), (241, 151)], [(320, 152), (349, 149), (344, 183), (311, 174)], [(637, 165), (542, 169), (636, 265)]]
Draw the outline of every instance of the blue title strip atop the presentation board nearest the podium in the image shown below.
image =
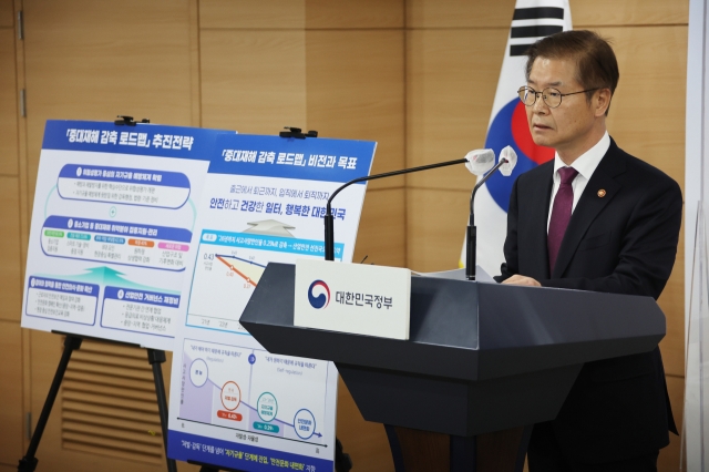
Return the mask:
[(349, 182), (369, 175), (373, 141), (219, 134), (210, 174)]

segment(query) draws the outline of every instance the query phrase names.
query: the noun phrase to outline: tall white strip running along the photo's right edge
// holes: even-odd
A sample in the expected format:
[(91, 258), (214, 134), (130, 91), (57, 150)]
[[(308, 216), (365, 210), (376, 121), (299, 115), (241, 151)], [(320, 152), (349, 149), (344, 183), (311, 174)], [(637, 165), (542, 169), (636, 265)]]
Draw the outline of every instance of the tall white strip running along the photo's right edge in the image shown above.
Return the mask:
[[(689, 1), (685, 127), (685, 404), (680, 470), (709, 471), (709, 309), (707, 208), (709, 198), (709, 7)], [(705, 222), (705, 225), (701, 222)], [(678, 412), (675, 411), (675, 421)]]

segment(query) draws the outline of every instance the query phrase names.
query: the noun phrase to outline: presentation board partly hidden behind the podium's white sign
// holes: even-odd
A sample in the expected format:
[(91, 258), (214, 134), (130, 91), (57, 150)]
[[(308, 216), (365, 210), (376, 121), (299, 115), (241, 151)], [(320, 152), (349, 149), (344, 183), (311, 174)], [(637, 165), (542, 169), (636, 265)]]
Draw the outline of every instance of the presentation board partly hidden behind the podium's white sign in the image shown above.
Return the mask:
[[(369, 174), (374, 147), (218, 136), (182, 290), (168, 456), (246, 471), (333, 470), (337, 369), (271, 355), (238, 320), (268, 263), (325, 257), (327, 199)], [(333, 202), (337, 260), (352, 259), (364, 191), (352, 185)]]

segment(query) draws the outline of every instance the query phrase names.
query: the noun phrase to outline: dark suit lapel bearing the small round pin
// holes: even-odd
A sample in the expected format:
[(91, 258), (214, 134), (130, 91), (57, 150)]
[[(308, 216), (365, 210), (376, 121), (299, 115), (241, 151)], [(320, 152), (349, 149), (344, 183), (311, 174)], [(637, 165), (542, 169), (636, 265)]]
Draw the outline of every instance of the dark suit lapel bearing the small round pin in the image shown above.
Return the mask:
[[(556, 266), (552, 270), (552, 278), (562, 277), (593, 220), (620, 192), (621, 185), (615, 181), (615, 176), (623, 172), (625, 172), (625, 155), (619, 151), (615, 141), (610, 140), (610, 147), (590, 176), (590, 181), (576, 204), (572, 219), (568, 222), (562, 247), (559, 247), (556, 257)], [(603, 197), (598, 196), (600, 189), (605, 191)]]

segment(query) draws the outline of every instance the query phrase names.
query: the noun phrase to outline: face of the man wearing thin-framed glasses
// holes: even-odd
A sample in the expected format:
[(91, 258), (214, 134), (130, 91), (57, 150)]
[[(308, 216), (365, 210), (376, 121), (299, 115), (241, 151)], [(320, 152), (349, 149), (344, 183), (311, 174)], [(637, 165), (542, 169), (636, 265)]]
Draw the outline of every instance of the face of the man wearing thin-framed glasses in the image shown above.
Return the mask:
[[(546, 88), (562, 93), (584, 90), (576, 81), (576, 63), (566, 59), (536, 58), (532, 64), (527, 85), (537, 92)], [(595, 122), (592, 104), (585, 93), (564, 96), (562, 104), (551, 109), (537, 96), (532, 106), (526, 106), (532, 138), (540, 146), (554, 147), (559, 153), (573, 153), (583, 148), (593, 132)]]

